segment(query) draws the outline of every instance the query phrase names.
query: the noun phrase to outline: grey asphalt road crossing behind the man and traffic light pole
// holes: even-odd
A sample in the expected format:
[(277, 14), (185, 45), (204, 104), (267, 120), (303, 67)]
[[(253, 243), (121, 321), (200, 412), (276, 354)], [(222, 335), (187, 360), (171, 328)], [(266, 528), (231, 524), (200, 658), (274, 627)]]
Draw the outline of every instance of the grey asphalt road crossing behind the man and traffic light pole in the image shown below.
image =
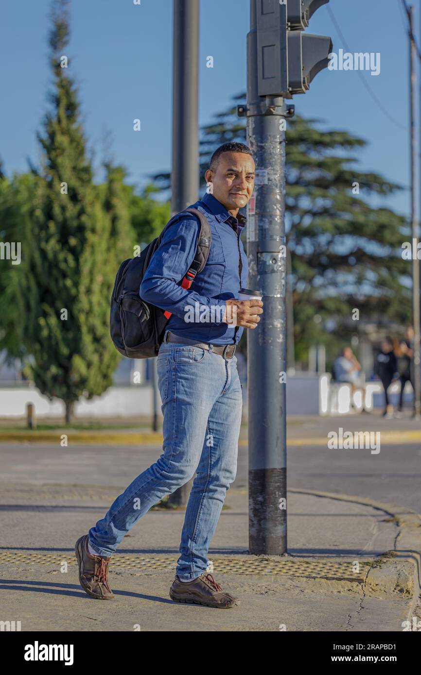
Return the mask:
[[(338, 429), (416, 429), (418, 423), (372, 420), (364, 417), (329, 418), (291, 425), (289, 440), (318, 440), (314, 445), (289, 445), (289, 488), (320, 490), (368, 497), (421, 512), (421, 441), (382, 441), (380, 452), (330, 450), (326, 434)], [(246, 434), (243, 433), (247, 437)], [(326, 444), (320, 439), (326, 438)], [(245, 441), (243, 441), (245, 442)], [(72, 483), (124, 487), (161, 454), (160, 446), (68, 445), (0, 443), (1, 481), (9, 483)], [(240, 445), (237, 478), (232, 487), (247, 489), (247, 445)], [(0, 487), (1, 489), (1, 487)]]

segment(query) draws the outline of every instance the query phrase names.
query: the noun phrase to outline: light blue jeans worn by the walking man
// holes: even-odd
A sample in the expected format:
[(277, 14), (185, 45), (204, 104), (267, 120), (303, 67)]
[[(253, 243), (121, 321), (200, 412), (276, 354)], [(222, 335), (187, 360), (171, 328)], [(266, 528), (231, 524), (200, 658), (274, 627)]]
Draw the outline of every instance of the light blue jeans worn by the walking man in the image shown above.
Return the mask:
[(177, 576), (191, 580), (209, 564), (209, 542), (237, 473), (243, 409), (237, 356), (225, 359), (203, 348), (164, 342), (157, 373), (164, 414), (162, 455), (89, 530), (89, 543), (99, 555), (110, 556), (151, 506), (197, 472), (176, 567)]

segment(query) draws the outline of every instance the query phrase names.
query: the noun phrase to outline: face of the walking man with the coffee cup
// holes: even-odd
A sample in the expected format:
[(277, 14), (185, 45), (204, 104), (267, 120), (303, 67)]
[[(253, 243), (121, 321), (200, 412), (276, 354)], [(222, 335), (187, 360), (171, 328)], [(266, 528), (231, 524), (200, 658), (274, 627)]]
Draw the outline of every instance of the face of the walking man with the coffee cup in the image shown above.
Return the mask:
[(253, 194), (255, 164), (246, 153), (222, 153), (215, 171), (207, 169), (205, 180), (227, 211), (245, 207)]

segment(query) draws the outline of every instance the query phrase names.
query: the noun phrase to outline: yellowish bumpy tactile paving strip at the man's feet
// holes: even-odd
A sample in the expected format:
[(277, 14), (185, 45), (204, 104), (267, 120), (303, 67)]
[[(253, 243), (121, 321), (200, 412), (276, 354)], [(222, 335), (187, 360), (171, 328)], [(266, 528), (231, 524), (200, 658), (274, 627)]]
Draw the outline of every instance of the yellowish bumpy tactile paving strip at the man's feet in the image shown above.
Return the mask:
[[(176, 557), (168, 554), (153, 556), (132, 556), (118, 553), (112, 558), (112, 569), (137, 570), (171, 570), (174, 571)], [(214, 572), (232, 572), (234, 574), (287, 574), (289, 576), (305, 576), (335, 580), (352, 580), (355, 583), (364, 583), (370, 562), (360, 562), (360, 571), (353, 572), (353, 562), (334, 560), (303, 560), (294, 558), (255, 558), (254, 556), (238, 556), (232, 558), (211, 558)], [(59, 568), (64, 562), (76, 566), (76, 558), (68, 552), (63, 553), (31, 553), (30, 551), (1, 551), (1, 563), (15, 563), (25, 565), (56, 565)]]

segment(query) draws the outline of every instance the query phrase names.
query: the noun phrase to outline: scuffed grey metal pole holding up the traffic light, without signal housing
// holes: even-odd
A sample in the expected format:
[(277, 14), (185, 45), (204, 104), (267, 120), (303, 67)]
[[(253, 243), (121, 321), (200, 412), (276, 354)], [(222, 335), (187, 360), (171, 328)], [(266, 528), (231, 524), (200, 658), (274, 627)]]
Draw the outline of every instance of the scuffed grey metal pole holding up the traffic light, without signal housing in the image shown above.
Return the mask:
[(249, 208), (247, 218), (249, 288), (264, 294), (262, 321), (247, 335), (249, 552), (282, 555), (287, 552), (286, 385), (280, 375), (287, 370), (284, 120), (293, 106), (279, 96), (259, 97), (256, 9), (251, 0), (247, 111), (239, 110), (247, 115), (247, 144), (256, 164), (255, 213)]

